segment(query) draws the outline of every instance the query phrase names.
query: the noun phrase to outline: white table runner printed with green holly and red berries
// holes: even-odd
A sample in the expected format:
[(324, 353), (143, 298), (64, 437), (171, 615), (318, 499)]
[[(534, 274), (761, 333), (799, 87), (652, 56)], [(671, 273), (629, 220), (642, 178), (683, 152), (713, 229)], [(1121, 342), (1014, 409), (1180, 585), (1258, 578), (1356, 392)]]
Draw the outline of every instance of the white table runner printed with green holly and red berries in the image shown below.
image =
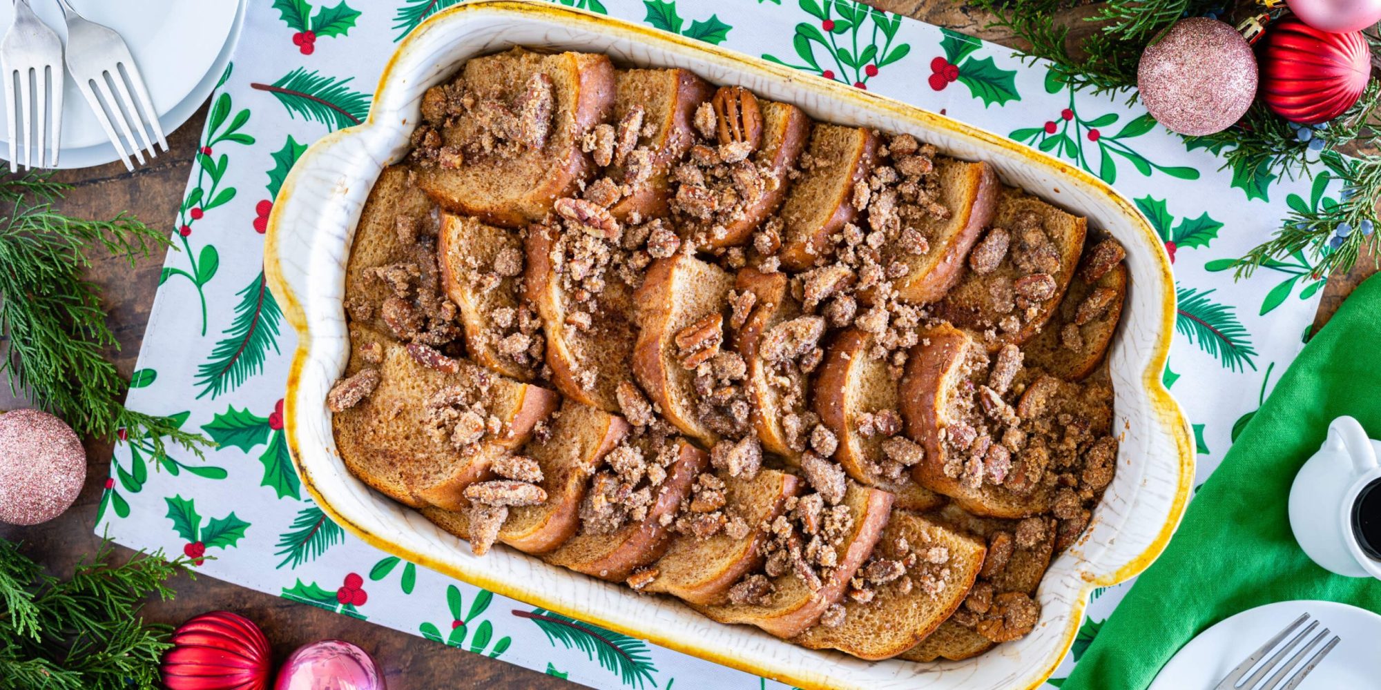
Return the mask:
[[(173, 219), (181, 251), (167, 255), (128, 397), (220, 447), (200, 461), (123, 439), (97, 531), (131, 548), (186, 553), (211, 577), (590, 686), (784, 687), (383, 553), (331, 523), (293, 471), (282, 397), (294, 334), (262, 270), (272, 200), (312, 141), (367, 116), (396, 41), (456, 1), (250, 3)], [(1272, 262), (1240, 283), (1229, 269), (1288, 208), (1333, 197), (1338, 185), (1327, 172), (1290, 181), (1224, 168), (1214, 152), (1127, 106), (1124, 94), (1076, 94), (1041, 62), (851, 0), (559, 1), (947, 113), (1113, 184), (1150, 218), (1174, 261), (1179, 313), (1164, 382), (1195, 422), (1200, 482), (1313, 320), (1323, 276), (1312, 257)], [(1051, 684), (1077, 662), (1124, 586), (1095, 592)]]

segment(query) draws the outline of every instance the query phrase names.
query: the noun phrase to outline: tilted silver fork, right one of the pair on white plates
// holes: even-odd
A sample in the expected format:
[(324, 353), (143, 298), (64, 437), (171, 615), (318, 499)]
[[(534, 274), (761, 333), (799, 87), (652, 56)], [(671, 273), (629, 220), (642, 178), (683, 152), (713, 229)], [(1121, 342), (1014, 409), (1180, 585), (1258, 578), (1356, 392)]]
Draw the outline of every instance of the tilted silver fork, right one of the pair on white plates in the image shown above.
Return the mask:
[[(130, 55), (130, 47), (124, 39), (108, 26), (87, 21), (68, 4), (68, 0), (58, 0), (62, 6), (62, 15), (68, 22), (68, 69), (77, 83), (77, 90), (91, 105), (95, 119), (105, 130), (105, 135), (115, 145), (115, 152), (120, 155), (124, 167), (134, 170), (130, 164), (133, 155), (139, 164), (144, 164), (144, 153), (148, 149), (149, 157), (157, 157), (148, 130), (153, 131), (163, 150), (168, 150), (168, 141), (163, 137), (163, 127), (159, 124), (159, 113), (153, 110), (153, 99), (149, 90), (144, 87), (144, 77), (139, 68)], [(128, 86), (126, 86), (128, 80)], [(113, 87), (113, 91), (112, 91)], [(134, 92), (138, 99), (130, 98)], [(124, 134), (128, 148), (115, 134), (110, 120)], [(139, 142), (134, 141), (134, 132), (139, 134)]]

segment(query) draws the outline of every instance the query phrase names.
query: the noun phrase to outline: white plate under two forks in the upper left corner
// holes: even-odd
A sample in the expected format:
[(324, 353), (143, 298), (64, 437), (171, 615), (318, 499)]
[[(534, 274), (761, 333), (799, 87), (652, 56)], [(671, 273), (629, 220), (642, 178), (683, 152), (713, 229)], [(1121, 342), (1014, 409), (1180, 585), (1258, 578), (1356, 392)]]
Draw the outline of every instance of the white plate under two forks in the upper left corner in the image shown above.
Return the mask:
[[(164, 134), (173, 134), (202, 101), (231, 59), (244, 19), (242, 0), (69, 0), (83, 17), (124, 37), (144, 75)], [(32, 1), (35, 12), (66, 40), (62, 10), (55, 0)], [(14, 6), (0, 3), (0, 32), (14, 21)], [(69, 73), (62, 95), (62, 155), (58, 167), (90, 167), (117, 160), (95, 115)], [(0, 159), (8, 159), (4, 137), (8, 113), (0, 108)], [(23, 149), (19, 149), (23, 156)], [(35, 155), (37, 159), (37, 152)]]

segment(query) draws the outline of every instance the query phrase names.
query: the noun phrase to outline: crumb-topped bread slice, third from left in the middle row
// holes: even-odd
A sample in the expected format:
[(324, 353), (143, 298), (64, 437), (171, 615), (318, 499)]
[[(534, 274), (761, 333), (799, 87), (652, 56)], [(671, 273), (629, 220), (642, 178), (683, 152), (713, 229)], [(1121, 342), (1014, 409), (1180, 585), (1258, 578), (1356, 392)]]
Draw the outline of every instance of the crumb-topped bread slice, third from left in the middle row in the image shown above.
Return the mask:
[(610, 276), (605, 290), (597, 295), (598, 308), (590, 313), (590, 327), (573, 326), (569, 298), (562, 291), (561, 275), (552, 262), (558, 232), (547, 225), (533, 225), (525, 243), (523, 287), (528, 304), (541, 316), (551, 382), (566, 397), (617, 413), (615, 389), (624, 381), (632, 381), (630, 362), (637, 342), (632, 290)]

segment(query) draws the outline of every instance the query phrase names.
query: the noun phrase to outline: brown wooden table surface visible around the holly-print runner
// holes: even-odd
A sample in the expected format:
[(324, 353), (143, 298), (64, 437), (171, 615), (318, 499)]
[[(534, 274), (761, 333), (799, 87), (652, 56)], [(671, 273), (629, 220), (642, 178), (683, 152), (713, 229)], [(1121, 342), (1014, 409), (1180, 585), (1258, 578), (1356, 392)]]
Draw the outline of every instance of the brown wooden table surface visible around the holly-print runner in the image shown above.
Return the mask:
[[(902, 12), (921, 21), (947, 26), (1007, 46), (1021, 47), (1010, 34), (983, 29), (985, 15), (971, 7), (946, 0), (876, 0), (882, 10)], [(1081, 7), (1065, 12), (1061, 19), (1077, 21), (1091, 8)], [(1081, 25), (1076, 32), (1091, 28)], [(168, 137), (171, 153), (164, 153), (151, 164), (133, 172), (120, 163), (62, 171), (58, 179), (75, 185), (58, 210), (86, 218), (110, 218), (130, 211), (151, 225), (167, 225), (175, 217), (182, 192), (192, 171), (192, 155), (206, 117), (203, 106), (186, 124)], [(109, 313), (109, 323), (120, 341), (119, 352), (110, 356), (122, 374), (134, 370), (144, 327), (157, 288), (163, 257), (142, 261), (130, 270), (123, 261), (98, 261), (88, 277), (101, 286)], [(1351, 290), (1374, 273), (1371, 261), (1363, 259), (1349, 275), (1331, 276), (1324, 290), (1316, 324), (1322, 324), (1337, 309)], [(7, 397), (0, 386), (0, 408), (23, 407), (22, 400)], [(87, 480), (76, 505), (61, 518), (36, 527), (0, 524), (0, 537), (25, 541), (30, 556), (43, 562), (54, 573), (68, 574), (83, 555), (90, 553), (99, 540), (93, 534), (97, 504), (106, 476), (109, 476), (110, 443), (86, 440)], [(128, 551), (120, 548), (122, 555)], [(547, 676), (521, 667), (494, 661), (467, 651), (442, 647), (410, 633), (381, 625), (337, 615), (312, 606), (290, 603), (286, 599), (244, 589), (209, 577), (174, 582), (177, 599), (148, 604), (151, 621), (181, 624), (184, 620), (213, 609), (239, 611), (264, 628), (273, 644), (273, 656), (282, 661), (300, 644), (340, 638), (355, 642), (374, 656), (384, 668), (392, 690), (435, 687), (485, 689), (557, 689), (579, 687), (574, 683)]]

